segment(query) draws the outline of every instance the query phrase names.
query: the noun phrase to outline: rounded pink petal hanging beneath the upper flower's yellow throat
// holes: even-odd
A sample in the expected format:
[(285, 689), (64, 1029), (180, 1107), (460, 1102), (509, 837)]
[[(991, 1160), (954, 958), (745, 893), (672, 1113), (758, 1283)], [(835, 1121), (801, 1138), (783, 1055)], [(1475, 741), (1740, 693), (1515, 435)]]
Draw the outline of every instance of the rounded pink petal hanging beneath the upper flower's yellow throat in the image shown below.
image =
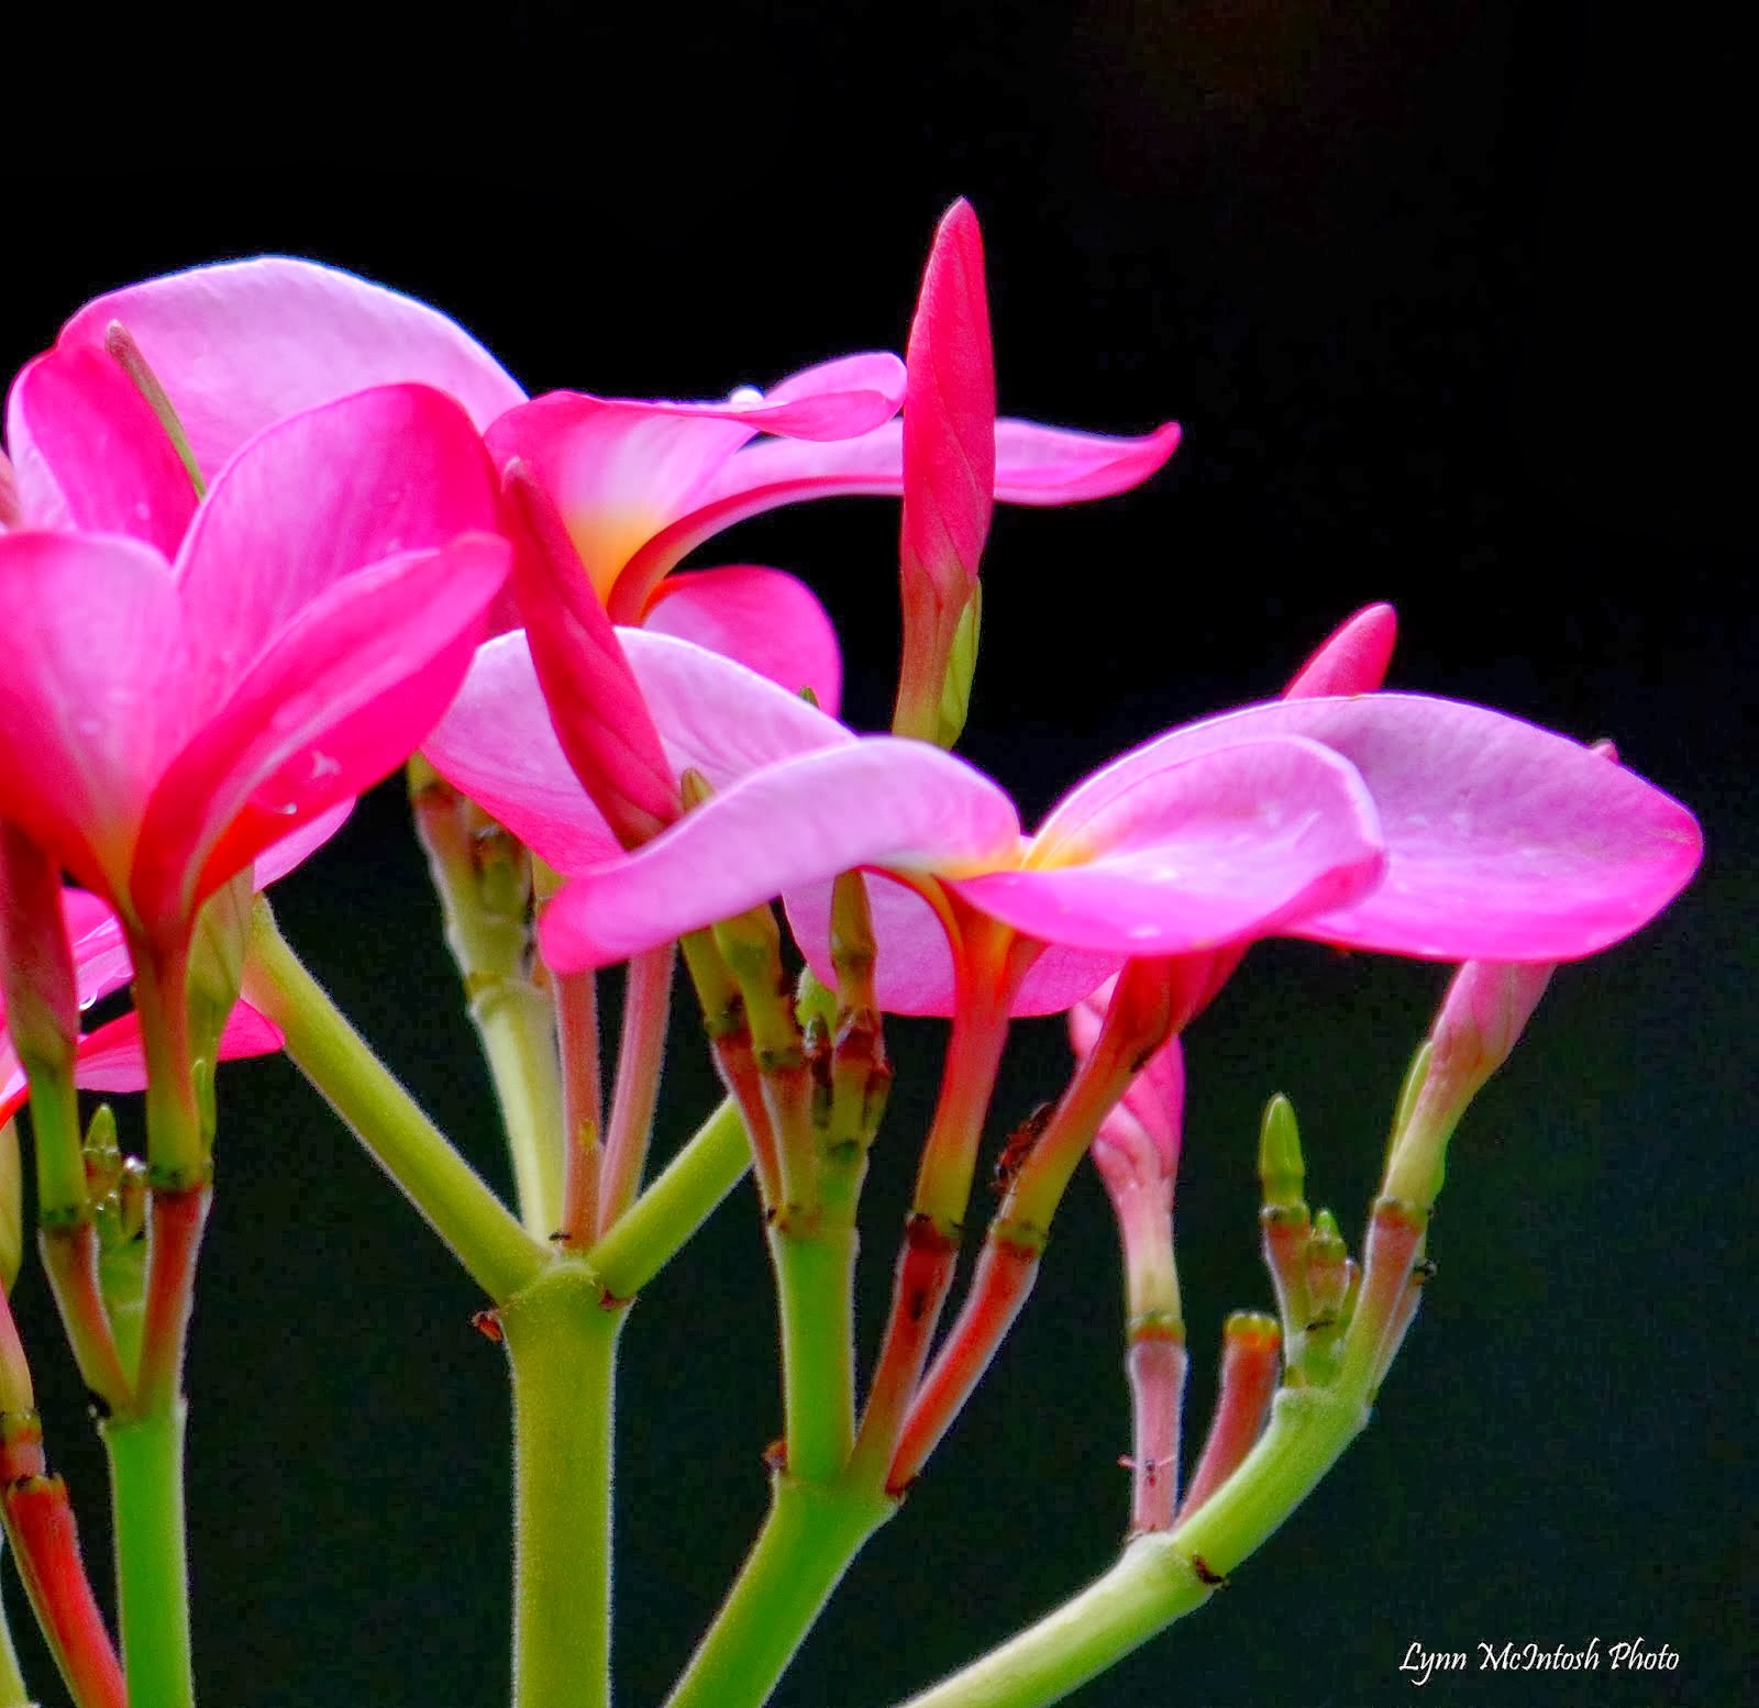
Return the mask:
[(818, 595), (797, 575), (756, 563), (668, 575), (654, 589), (642, 628), (735, 658), (793, 693), (811, 688), (823, 711), (837, 712), (837, 631)]

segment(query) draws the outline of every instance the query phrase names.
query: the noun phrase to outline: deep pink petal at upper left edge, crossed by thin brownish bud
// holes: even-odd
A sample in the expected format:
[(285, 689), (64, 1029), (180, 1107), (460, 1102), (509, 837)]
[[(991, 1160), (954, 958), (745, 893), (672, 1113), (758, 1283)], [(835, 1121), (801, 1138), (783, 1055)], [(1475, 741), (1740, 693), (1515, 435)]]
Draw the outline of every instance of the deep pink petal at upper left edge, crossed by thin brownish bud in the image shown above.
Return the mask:
[(102, 336), (95, 347), (58, 347), (19, 373), (7, 445), (30, 526), (127, 533), (176, 556), (195, 485)]

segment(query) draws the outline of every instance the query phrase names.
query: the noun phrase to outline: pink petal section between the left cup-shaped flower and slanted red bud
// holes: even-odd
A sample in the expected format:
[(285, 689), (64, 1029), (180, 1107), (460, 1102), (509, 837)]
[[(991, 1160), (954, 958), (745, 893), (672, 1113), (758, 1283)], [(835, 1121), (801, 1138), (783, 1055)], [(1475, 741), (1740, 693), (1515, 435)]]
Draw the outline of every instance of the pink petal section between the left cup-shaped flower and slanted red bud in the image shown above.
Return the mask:
[(464, 686), (422, 753), (559, 872), (584, 871), (621, 851), (556, 741), (524, 630), (477, 647)]

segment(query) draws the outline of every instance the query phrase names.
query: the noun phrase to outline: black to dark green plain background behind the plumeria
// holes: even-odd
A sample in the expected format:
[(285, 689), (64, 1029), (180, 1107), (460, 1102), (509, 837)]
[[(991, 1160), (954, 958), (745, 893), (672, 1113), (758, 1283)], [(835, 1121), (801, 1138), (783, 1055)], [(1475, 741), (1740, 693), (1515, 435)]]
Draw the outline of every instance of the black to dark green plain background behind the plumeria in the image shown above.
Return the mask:
[[(1370, 598), (1400, 609), (1397, 684), (1615, 735), (1701, 813), (1690, 894), (1558, 976), (1462, 1129), (1441, 1275), (1374, 1427), (1226, 1594), (1080, 1697), (1094, 1708), (1361, 1708), (1405, 1699), (1412, 1641), (1476, 1659), (1481, 1639), (1595, 1636), (1671, 1645), (1678, 1669), (1444, 1676), (1427, 1699), (1743, 1696), (1754, 602), (1717, 415), (1738, 408), (1720, 58), (1657, 19), (1511, 0), (301, 9), (178, 14), (142, 40), (93, 23), (14, 58), (7, 371), (97, 290), (278, 250), (434, 301), (533, 392), (716, 396), (901, 348), (934, 220), (966, 193), (1003, 408), (1187, 431), (1133, 498), (997, 517), (964, 748), (1027, 818), (1117, 748), (1275, 691)], [(705, 561), (806, 573), (872, 726), (894, 540), (892, 507), (823, 505)], [(278, 906), (500, 1179), (396, 790)], [(1353, 1228), (1439, 987), (1432, 967), (1265, 946), (1193, 1031), (1193, 1432), (1223, 1314), (1268, 1300), (1258, 1108), (1295, 1098), (1310, 1191)], [(864, 1354), (938, 1043), (894, 1034)], [(681, 1024), (661, 1145), (712, 1101), (700, 1055)], [(997, 1126), (1064, 1061), (1055, 1026), (1022, 1027)], [(478, 1300), (285, 1062), (222, 1091), (190, 1374), (202, 1699), (505, 1699), (505, 1383), (468, 1326)], [(102, 1469), (35, 1274), (18, 1305), (99, 1564)], [(1108, 1562), (1119, 1319), (1084, 1175), (1011, 1344), (779, 1704), (880, 1708)], [(661, 1699), (762, 1516), (772, 1361), (741, 1193), (624, 1335), (623, 1703)]]

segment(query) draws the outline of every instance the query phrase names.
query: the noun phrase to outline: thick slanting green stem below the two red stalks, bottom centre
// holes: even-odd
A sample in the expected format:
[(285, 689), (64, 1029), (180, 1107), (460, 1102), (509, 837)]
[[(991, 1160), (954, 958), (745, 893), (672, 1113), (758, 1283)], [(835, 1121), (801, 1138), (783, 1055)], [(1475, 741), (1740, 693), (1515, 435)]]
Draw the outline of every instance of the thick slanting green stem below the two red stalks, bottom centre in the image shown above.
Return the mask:
[(848, 1479), (779, 1474), (770, 1513), (667, 1708), (760, 1708), (850, 1560), (897, 1502)]

